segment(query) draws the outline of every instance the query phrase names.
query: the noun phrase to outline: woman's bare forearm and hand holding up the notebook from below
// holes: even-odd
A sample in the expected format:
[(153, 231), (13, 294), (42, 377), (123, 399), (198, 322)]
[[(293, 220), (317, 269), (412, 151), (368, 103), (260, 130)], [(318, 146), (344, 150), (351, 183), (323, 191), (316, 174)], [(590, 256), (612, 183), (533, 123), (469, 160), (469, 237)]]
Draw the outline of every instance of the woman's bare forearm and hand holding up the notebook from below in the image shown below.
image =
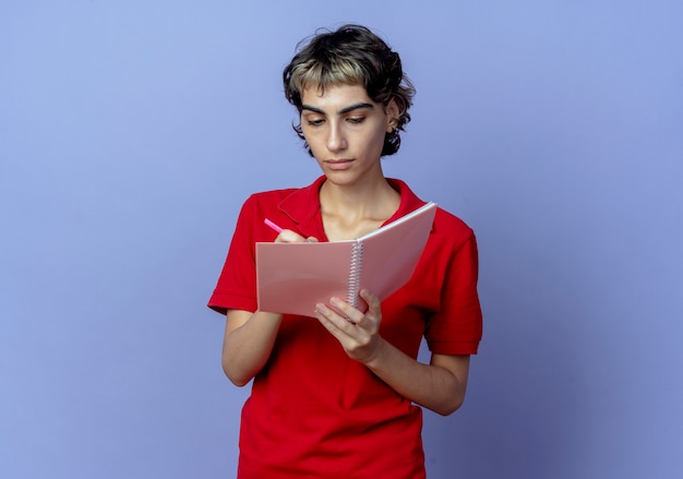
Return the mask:
[(379, 335), (380, 300), (368, 290), (361, 291), (361, 297), (369, 304), (368, 313), (333, 300), (349, 320), (319, 304), (319, 321), (350, 358), (366, 364), (402, 396), (443, 416), (457, 410), (465, 399), (469, 356), (433, 355), (430, 364), (416, 361)]

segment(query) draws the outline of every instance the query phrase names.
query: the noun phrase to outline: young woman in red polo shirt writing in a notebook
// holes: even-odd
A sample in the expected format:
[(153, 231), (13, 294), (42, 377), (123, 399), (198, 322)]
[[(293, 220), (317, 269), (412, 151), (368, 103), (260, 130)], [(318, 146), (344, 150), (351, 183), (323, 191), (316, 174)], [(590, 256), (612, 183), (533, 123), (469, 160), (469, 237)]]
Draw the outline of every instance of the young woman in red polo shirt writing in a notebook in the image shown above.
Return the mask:
[[(319, 33), (284, 72), (299, 135), (322, 176), (311, 185), (252, 195), (242, 206), (208, 306), (226, 314), (223, 368), (242, 409), (240, 478), (424, 477), (427, 407), (450, 415), (465, 398), (481, 338), (472, 230), (439, 209), (409, 283), (363, 314), (339, 298), (311, 318), (260, 311), (256, 241), (359, 237), (423, 205), (384, 177), (415, 93), (397, 53), (369, 29)], [(269, 218), (285, 229), (264, 225)], [(314, 316), (314, 318), (313, 318)], [(421, 338), (429, 364), (417, 361)]]

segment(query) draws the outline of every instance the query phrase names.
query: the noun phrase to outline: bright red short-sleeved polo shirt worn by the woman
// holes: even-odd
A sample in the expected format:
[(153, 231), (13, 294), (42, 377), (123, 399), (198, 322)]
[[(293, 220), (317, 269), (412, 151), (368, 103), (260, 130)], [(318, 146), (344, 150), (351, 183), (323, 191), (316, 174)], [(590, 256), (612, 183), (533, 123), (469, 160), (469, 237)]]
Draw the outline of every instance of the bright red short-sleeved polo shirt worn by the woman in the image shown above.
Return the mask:
[[(324, 180), (247, 200), (211, 308), (256, 310), (254, 244), (277, 236), (264, 218), (327, 240), (319, 200)], [(390, 182), (400, 205), (386, 223), (424, 204), (403, 181)], [(412, 358), (422, 336), (432, 352), (476, 354), (477, 272), (472, 230), (440, 208), (412, 278), (382, 302), (380, 334)], [(285, 315), (242, 409), (238, 477), (421, 478), (421, 409), (349, 359), (315, 319)]]

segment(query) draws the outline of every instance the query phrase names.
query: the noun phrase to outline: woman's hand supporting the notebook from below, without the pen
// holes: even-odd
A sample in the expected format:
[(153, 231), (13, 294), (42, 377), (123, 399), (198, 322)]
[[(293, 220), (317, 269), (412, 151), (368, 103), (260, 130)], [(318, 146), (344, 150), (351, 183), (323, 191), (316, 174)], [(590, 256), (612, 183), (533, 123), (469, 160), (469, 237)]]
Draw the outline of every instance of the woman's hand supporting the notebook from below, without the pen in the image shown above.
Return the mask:
[(362, 363), (371, 362), (382, 347), (380, 323), (382, 308), (380, 299), (367, 289), (361, 289), (360, 297), (368, 303), (368, 312), (362, 313), (339, 298), (332, 298), (329, 303), (339, 312), (319, 303), (315, 318), (335, 336), (349, 358)]

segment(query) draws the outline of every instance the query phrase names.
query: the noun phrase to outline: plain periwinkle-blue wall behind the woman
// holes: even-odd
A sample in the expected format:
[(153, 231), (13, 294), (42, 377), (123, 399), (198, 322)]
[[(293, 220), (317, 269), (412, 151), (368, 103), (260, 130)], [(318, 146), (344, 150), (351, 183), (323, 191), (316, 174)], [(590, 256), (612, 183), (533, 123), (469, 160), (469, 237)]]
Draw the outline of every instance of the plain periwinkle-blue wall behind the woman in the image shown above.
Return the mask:
[[(280, 73), (359, 22), (418, 88), (388, 176), (477, 231), (433, 478), (683, 470), (683, 3), (0, 3), (0, 477), (232, 477), (205, 308), (238, 207), (319, 173)], [(292, 390), (295, 386), (292, 385)]]

